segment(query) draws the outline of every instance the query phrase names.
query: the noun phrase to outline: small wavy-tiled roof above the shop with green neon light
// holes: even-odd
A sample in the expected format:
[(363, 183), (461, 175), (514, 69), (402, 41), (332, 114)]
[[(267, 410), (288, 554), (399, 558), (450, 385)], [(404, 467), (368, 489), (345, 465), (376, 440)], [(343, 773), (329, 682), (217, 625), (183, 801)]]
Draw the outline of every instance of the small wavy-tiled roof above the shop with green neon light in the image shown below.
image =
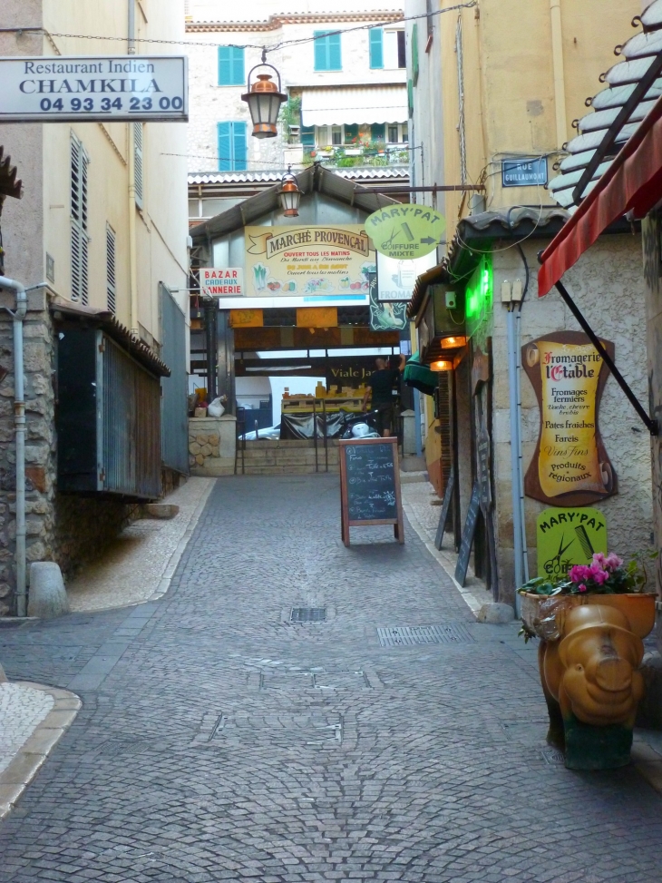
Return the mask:
[[(440, 264), (422, 273), (414, 284), (407, 317), (414, 319), (423, 306), (429, 285), (453, 285), (470, 276), (481, 255), (489, 250), (489, 242), (497, 239), (518, 240), (550, 238), (560, 231), (570, 215), (564, 209), (518, 205), (511, 208), (482, 211), (462, 218)], [(475, 246), (475, 247), (474, 247)]]

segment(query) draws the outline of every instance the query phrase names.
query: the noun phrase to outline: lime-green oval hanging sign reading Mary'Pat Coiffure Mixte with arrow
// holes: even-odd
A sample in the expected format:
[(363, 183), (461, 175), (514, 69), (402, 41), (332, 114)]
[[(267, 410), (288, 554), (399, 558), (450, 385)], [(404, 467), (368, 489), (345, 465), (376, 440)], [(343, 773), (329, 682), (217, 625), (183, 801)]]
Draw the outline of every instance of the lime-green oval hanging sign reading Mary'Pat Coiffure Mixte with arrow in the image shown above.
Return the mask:
[(409, 202), (388, 205), (365, 219), (365, 232), (373, 240), (375, 249), (398, 260), (430, 254), (445, 229), (446, 221), (438, 211)]

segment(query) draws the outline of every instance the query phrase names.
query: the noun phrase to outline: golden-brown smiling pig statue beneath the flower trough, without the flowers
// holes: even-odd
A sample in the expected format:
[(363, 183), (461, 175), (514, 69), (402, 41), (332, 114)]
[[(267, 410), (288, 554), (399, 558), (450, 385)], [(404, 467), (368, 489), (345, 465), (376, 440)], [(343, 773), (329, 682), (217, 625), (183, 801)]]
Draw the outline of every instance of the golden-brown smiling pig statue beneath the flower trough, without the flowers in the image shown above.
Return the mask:
[[(613, 596), (612, 596), (613, 597)], [(629, 762), (644, 681), (638, 666), (649, 627), (611, 603), (560, 608), (557, 641), (540, 642), (540, 682), (550, 711), (549, 741), (565, 748), (571, 770)], [(652, 623), (651, 623), (652, 624)], [(643, 633), (642, 633), (643, 632)]]

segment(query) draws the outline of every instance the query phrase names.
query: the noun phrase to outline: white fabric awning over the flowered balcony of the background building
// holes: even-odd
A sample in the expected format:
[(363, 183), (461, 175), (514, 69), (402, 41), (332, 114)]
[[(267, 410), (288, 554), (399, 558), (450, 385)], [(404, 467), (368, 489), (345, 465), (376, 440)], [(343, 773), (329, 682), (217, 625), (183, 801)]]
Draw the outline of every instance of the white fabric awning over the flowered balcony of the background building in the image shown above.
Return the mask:
[(301, 119), (305, 126), (406, 123), (407, 88), (402, 83), (304, 89)]

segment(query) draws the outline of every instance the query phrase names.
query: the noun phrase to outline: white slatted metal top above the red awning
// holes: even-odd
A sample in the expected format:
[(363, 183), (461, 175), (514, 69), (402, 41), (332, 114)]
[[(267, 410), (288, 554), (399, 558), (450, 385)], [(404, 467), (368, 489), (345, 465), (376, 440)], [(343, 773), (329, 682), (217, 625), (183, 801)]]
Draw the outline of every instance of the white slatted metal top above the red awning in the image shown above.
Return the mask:
[[(662, 0), (653, 0), (632, 24), (643, 25), (644, 30), (616, 47), (615, 53), (622, 55), (623, 60), (600, 75), (600, 81), (608, 86), (587, 100), (590, 113), (573, 123), (579, 134), (565, 145), (568, 155), (560, 162), (561, 173), (549, 185), (553, 198), (570, 212), (595, 187), (618, 151), (662, 96), (662, 75), (658, 69), (646, 93), (638, 101), (634, 96), (642, 78), (648, 74), (650, 79), (655, 71), (652, 65), (659, 65), (662, 59)], [(628, 103), (633, 103), (632, 107), (627, 119), (619, 125), (618, 115)], [(617, 125), (618, 131), (611, 132), (610, 127)], [(609, 143), (611, 136), (613, 142)], [(599, 162), (599, 165), (579, 193), (578, 185), (591, 162)]]

